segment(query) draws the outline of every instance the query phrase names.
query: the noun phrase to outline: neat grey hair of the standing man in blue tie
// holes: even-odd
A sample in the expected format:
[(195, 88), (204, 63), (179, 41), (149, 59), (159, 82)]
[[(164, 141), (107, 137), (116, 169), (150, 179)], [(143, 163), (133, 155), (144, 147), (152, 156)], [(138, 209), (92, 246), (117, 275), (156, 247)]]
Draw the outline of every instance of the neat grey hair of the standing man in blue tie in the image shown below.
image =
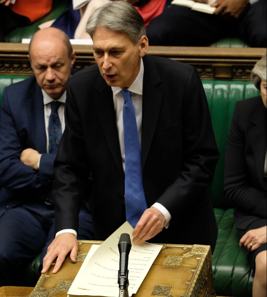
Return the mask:
[(89, 17), (85, 31), (93, 39), (94, 31), (100, 27), (126, 33), (134, 45), (141, 36), (146, 35), (142, 16), (130, 3), (124, 1), (99, 7)]

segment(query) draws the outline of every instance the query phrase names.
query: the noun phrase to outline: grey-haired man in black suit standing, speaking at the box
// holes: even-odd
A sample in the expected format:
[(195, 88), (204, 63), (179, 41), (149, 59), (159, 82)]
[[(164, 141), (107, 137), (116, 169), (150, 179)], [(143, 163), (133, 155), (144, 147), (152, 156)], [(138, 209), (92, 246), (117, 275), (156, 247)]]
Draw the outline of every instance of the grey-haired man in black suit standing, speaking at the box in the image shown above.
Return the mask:
[[(89, 207), (96, 239), (105, 240), (129, 221), (129, 211), (138, 212), (143, 204), (143, 192), (146, 207), (137, 223), (131, 223), (134, 243), (152, 238), (214, 249), (217, 226), (207, 187), (219, 154), (196, 69), (146, 56), (144, 21), (127, 2), (97, 9), (86, 30), (97, 65), (68, 80), (66, 129), (55, 160), (56, 232), (77, 229), (79, 201), (91, 170)], [(125, 107), (131, 101), (135, 118), (130, 128), (135, 126), (138, 135), (128, 133), (139, 140), (139, 150), (141, 144), (139, 156), (133, 158), (136, 164), (130, 165), (136, 174), (131, 186), (142, 180), (136, 190), (129, 190), (131, 156), (125, 133), (130, 119)], [(56, 273), (68, 251), (75, 261), (77, 241), (67, 232), (57, 235), (48, 248), (43, 273), (58, 256)]]

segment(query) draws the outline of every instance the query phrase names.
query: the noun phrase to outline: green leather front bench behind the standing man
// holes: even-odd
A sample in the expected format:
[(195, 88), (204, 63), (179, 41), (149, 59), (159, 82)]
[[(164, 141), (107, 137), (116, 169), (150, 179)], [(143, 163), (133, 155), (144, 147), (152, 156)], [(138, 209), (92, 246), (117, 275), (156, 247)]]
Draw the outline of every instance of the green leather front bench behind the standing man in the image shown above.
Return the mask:
[[(3, 88), (28, 76), (0, 76), (0, 102)], [(237, 100), (257, 96), (259, 91), (250, 81), (209, 81), (203, 80), (213, 129), (220, 150), (214, 181), (210, 188), (214, 212), (218, 225), (218, 239), (213, 253), (213, 274), (215, 291), (221, 296), (251, 297), (251, 269), (245, 253), (239, 248), (239, 239), (234, 225), (233, 208), (226, 203), (223, 195), (224, 155), (231, 118)], [(201, 224), (201, 222), (200, 222)], [(203, 226), (205, 228), (205, 226)], [(39, 278), (40, 255), (24, 273), (25, 285), (34, 286)]]

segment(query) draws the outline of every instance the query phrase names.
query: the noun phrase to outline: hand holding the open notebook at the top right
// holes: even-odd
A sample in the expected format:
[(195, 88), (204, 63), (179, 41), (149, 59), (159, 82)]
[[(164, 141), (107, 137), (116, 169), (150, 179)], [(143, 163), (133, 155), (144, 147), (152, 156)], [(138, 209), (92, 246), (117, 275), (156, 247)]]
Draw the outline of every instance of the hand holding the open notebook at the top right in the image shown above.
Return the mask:
[(243, 10), (247, 7), (247, 0), (217, 0), (211, 7), (216, 7), (215, 14), (239, 18)]

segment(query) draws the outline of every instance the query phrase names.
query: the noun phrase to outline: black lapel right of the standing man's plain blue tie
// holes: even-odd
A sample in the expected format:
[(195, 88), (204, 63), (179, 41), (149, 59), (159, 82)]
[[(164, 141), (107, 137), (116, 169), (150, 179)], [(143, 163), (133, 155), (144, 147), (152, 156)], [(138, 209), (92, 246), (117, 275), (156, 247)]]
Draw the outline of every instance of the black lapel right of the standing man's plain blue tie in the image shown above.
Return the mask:
[(153, 59), (143, 57), (143, 108), (142, 108), (142, 142), (141, 161), (142, 170), (147, 159), (149, 148), (156, 129), (163, 93), (157, 89), (161, 82)]

